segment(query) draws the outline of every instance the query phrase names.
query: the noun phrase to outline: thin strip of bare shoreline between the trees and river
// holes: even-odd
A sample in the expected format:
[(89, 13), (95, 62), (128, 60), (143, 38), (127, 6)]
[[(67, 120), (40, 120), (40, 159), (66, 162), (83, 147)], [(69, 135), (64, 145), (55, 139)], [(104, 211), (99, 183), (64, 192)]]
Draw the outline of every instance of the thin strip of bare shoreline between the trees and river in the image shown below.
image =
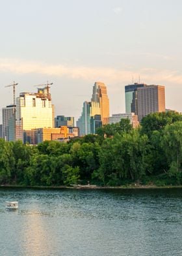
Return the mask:
[(177, 189), (181, 188), (182, 185), (122, 185), (122, 186), (100, 186), (100, 185), (60, 185), (60, 186), (25, 186), (25, 185), (0, 185), (1, 188), (24, 188), (24, 189)]

